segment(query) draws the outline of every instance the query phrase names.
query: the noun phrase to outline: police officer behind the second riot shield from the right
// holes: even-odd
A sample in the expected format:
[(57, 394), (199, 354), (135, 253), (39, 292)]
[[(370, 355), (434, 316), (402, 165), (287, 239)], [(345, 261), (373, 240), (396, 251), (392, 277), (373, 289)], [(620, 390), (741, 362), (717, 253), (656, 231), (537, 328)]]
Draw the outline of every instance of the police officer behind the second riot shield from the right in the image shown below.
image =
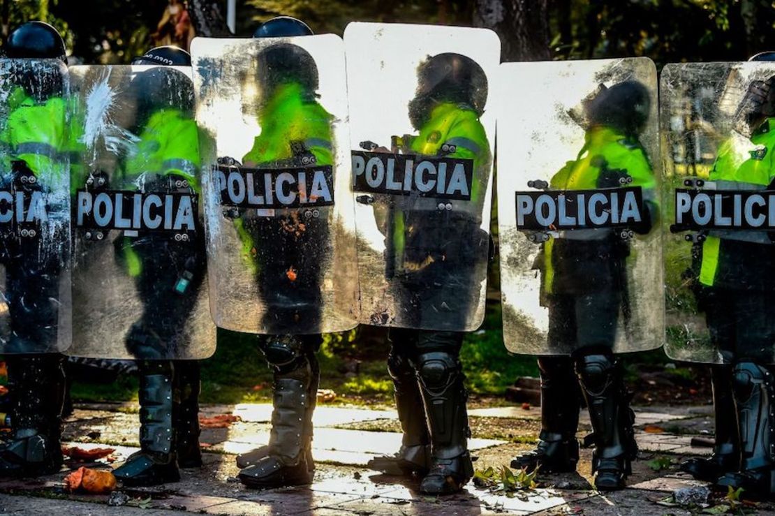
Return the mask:
[[(636, 81), (604, 88), (584, 111), (587, 132), (577, 160), (555, 174), (549, 187), (584, 190), (639, 186), (647, 233), (656, 221), (655, 179), (639, 143), (649, 115), (649, 93)], [(591, 232), (590, 232), (591, 231)], [(582, 230), (543, 244), (538, 268), (542, 302), (549, 308), (549, 346), (555, 355), (539, 356), (542, 428), (537, 448), (512, 461), (512, 467), (542, 473), (576, 470), (576, 439), (581, 396), (593, 428), (595, 487), (624, 487), (637, 445), (622, 366), (611, 351), (618, 319), (629, 313), (625, 260), (629, 243), (615, 232)], [(620, 316), (621, 314), (621, 316)], [(564, 354), (560, 354), (564, 353)]]

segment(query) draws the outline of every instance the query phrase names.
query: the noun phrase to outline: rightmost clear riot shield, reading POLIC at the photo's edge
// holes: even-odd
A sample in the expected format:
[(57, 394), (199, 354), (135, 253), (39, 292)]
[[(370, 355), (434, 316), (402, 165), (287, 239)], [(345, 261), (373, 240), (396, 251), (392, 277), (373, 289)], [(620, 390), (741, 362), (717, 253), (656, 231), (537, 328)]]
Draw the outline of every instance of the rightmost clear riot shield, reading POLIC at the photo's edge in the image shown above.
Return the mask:
[(668, 64), (660, 91), (666, 352), (772, 363), (775, 64)]

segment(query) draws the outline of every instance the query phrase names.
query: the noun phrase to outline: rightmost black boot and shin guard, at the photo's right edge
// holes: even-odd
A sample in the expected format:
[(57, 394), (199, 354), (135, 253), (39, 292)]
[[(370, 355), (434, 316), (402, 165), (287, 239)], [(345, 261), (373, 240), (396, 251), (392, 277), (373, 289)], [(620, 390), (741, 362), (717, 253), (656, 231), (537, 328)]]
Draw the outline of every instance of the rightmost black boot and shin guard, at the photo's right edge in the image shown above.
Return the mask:
[(775, 493), (773, 462), (773, 376), (765, 366), (741, 362), (732, 371), (742, 459), (740, 470), (726, 473), (721, 487), (742, 487), (749, 494)]

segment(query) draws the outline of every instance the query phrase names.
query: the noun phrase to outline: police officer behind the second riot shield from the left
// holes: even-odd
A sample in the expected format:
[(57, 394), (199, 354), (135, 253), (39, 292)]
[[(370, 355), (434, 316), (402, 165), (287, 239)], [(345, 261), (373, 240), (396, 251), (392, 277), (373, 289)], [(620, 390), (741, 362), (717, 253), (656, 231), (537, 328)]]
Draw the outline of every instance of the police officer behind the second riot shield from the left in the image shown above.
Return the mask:
[[(160, 46), (133, 64), (190, 67), (188, 52)], [(167, 74), (159, 68), (142, 71), (133, 80), (138, 92), (137, 152), (124, 163), (128, 182), (146, 177), (150, 191), (199, 192), (198, 133), (194, 120), (193, 86), (183, 82), (179, 97), (189, 105), (174, 106), (168, 98)], [(188, 86), (188, 91), (186, 90)], [(173, 184), (173, 186), (170, 186)], [(177, 241), (169, 234), (119, 237), (116, 254), (142, 296), (143, 314), (129, 330), (126, 346), (140, 370), (140, 452), (115, 470), (126, 485), (153, 485), (180, 480), (178, 467), (202, 466), (199, 449), (199, 363), (164, 359), (171, 355), (168, 339), (191, 315), (196, 292), (205, 277), (204, 237)]]

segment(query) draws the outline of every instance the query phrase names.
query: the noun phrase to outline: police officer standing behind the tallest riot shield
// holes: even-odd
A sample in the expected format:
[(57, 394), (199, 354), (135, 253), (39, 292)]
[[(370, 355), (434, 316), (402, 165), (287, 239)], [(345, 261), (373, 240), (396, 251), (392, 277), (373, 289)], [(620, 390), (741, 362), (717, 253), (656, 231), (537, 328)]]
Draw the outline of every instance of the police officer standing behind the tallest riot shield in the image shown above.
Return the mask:
[[(405, 277), (397, 295), (413, 307), (414, 328), (456, 324), (477, 304), (476, 243), (488, 241), (480, 229), (485, 194), (480, 178), (487, 177), (491, 165), (490, 144), (479, 121), (486, 100), (487, 77), (469, 57), (440, 53), (418, 69), (417, 92), (408, 106), (418, 135), (405, 137), (409, 141), (402, 142), (403, 150), (473, 160), (474, 181), (470, 203), (460, 212), (443, 212), (435, 205), (421, 210), (412, 201), (396, 201), (387, 214), (393, 220), (385, 231), (386, 254), (402, 263), (398, 272)], [(443, 318), (437, 318), (439, 312)], [(397, 328), (388, 335), (387, 370), (404, 435), (394, 456), (378, 457), (369, 466), (392, 474), (418, 473), (420, 490), (428, 494), (455, 493), (474, 473), (459, 358), (463, 335)]]

